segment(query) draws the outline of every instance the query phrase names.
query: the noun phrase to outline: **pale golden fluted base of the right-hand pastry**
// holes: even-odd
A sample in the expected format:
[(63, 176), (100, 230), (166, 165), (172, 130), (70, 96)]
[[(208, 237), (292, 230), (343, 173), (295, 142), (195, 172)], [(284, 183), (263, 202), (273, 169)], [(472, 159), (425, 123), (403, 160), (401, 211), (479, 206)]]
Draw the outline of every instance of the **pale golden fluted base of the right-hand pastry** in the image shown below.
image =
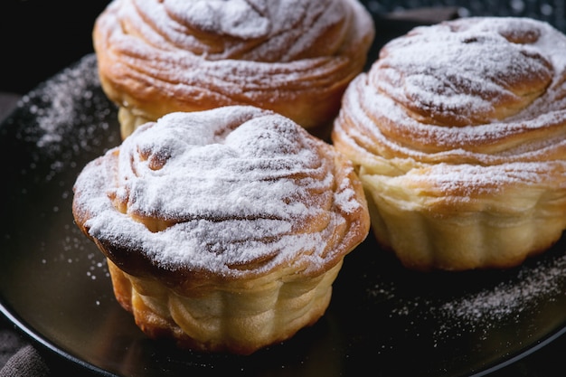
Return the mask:
[(391, 177), (361, 178), (375, 238), (410, 269), (511, 268), (549, 249), (566, 229), (561, 191), (509, 188), (438, 211), (434, 198), (416, 199), (418, 190), (383, 184)]

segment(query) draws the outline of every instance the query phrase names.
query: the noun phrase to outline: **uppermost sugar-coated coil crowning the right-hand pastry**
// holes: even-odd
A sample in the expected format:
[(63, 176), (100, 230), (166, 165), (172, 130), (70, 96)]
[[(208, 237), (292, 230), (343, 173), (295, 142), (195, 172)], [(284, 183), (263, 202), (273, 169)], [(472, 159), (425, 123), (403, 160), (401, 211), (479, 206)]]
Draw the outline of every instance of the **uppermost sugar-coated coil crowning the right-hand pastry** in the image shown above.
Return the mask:
[(427, 123), (485, 124), (520, 112), (558, 79), (565, 61), (549, 42), (565, 40), (550, 25), (529, 20), (416, 28), (382, 49), (370, 80)]

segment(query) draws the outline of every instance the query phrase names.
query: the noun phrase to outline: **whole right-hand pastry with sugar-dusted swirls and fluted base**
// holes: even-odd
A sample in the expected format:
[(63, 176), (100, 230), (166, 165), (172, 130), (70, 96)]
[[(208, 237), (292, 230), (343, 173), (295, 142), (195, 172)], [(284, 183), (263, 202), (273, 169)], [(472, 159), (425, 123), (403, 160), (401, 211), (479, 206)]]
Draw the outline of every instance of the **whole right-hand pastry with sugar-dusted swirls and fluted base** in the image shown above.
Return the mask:
[(476, 17), (412, 30), (353, 81), (332, 139), (405, 266), (507, 268), (559, 240), (565, 66), (549, 24)]

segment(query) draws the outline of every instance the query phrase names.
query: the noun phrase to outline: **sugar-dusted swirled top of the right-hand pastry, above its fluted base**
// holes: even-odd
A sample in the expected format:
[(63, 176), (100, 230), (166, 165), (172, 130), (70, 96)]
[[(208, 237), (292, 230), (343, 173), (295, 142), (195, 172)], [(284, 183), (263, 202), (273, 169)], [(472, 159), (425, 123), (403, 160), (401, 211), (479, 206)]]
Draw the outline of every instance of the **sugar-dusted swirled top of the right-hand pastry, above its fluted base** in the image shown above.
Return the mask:
[(414, 174), (440, 192), (451, 178), (469, 178), (468, 191), (498, 179), (549, 183), (564, 170), (565, 79), (566, 36), (549, 24), (477, 17), (419, 27), (354, 81), (333, 140), (356, 164), (387, 159), (385, 174)]

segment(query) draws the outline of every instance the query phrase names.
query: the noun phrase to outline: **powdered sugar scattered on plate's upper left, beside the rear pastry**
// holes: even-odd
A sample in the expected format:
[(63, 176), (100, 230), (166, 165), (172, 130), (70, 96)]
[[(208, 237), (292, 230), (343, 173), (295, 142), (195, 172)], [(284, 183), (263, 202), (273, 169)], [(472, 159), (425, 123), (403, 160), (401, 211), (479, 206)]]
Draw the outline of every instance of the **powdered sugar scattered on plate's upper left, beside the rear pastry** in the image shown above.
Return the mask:
[(18, 137), (37, 146), (34, 161), (52, 158), (52, 171), (61, 172), (85, 151), (118, 143), (99, 137), (115, 111), (108, 99), (94, 94), (99, 85), (96, 56), (89, 54), (23, 97), (19, 106), (27, 108), (36, 125), (20, 130)]

